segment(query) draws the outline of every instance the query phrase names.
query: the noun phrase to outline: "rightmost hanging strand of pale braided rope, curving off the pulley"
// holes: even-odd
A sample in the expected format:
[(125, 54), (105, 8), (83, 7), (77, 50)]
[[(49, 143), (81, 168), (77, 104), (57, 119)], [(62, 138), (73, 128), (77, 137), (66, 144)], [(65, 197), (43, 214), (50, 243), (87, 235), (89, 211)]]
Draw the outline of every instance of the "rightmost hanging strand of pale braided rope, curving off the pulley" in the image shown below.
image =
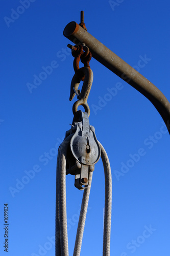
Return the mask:
[(101, 158), (105, 172), (105, 217), (103, 231), (103, 256), (110, 255), (110, 231), (111, 231), (111, 210), (112, 210), (112, 178), (109, 158), (107, 153), (99, 142), (101, 147)]

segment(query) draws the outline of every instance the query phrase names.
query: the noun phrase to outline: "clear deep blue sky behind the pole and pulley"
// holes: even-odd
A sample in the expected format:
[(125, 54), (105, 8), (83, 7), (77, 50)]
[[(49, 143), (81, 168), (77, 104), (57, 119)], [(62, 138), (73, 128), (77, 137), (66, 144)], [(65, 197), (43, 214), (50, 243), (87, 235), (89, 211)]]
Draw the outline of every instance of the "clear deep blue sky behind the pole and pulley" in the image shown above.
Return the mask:
[[(58, 149), (70, 128), (74, 103), (69, 101), (73, 57), (63, 30), (72, 20), (80, 22), (81, 10), (85, 12), (88, 32), (135, 66), (170, 101), (169, 2), (114, 3), (1, 1), (2, 256), (7, 255), (3, 248), (5, 203), (9, 209), (8, 256), (55, 255), (51, 240), (55, 235), (54, 148)], [(144, 62), (139, 61), (143, 58)], [(47, 70), (47, 66), (52, 68)], [(95, 59), (90, 66), (94, 74), (88, 99), (90, 124), (112, 168), (111, 255), (168, 255), (168, 132), (148, 99)], [(44, 69), (48, 74), (42, 73)], [(34, 85), (31, 90), (29, 83)], [(114, 90), (117, 84), (119, 90), (113, 96), (109, 89)], [(74, 187), (73, 176), (66, 179), (72, 255), (83, 193)], [(104, 172), (100, 160), (93, 173), (81, 256), (102, 255), (103, 208)]]

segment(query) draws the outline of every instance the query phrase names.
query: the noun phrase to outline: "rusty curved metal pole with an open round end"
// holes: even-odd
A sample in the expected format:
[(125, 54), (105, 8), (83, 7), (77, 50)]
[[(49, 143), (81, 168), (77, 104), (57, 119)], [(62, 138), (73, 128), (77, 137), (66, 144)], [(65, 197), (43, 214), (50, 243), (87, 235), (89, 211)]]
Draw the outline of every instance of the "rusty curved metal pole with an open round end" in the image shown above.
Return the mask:
[(163, 118), (170, 134), (170, 103), (152, 82), (119, 58), (76, 22), (67, 24), (63, 34), (75, 45), (83, 42), (89, 47), (92, 57), (147, 97)]

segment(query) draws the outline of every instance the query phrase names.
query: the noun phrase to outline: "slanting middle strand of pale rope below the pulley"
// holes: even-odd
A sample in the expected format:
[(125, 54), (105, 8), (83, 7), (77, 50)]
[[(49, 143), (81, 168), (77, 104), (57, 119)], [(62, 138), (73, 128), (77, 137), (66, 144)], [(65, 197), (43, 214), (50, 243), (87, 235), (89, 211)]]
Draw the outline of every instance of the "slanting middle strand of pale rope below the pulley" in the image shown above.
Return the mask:
[(88, 200), (90, 196), (92, 175), (93, 173), (89, 172), (89, 178), (88, 178), (89, 184), (88, 184), (88, 187), (84, 189), (84, 193), (83, 193), (83, 199), (82, 199), (82, 205), (80, 210), (80, 217), (79, 217), (79, 223), (77, 228), (76, 242), (75, 242), (73, 256), (80, 256), (82, 240), (83, 240), (83, 232), (84, 232), (84, 226), (85, 226), (86, 214), (87, 214), (87, 208), (88, 208)]

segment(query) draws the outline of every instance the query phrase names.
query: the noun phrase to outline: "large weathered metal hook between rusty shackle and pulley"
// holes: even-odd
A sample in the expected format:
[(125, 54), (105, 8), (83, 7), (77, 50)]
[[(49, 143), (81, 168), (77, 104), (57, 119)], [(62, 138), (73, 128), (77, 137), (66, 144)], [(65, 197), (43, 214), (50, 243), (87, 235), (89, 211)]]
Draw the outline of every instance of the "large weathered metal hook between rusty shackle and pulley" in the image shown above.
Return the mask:
[(71, 88), (70, 88), (70, 97), (69, 100), (72, 100), (75, 95), (77, 95), (78, 100), (74, 103), (72, 106), (72, 112), (75, 115), (78, 111), (78, 106), (82, 105), (85, 109), (85, 112), (88, 114), (88, 117), (90, 116), (90, 108), (87, 103), (87, 99), (90, 93), (90, 89), (92, 86), (93, 81), (93, 72), (89, 67), (83, 67), (80, 69), (81, 74), (85, 76), (82, 90), (78, 90), (79, 84), (81, 81), (80, 73), (76, 73), (74, 77), (72, 77), (71, 80)]

